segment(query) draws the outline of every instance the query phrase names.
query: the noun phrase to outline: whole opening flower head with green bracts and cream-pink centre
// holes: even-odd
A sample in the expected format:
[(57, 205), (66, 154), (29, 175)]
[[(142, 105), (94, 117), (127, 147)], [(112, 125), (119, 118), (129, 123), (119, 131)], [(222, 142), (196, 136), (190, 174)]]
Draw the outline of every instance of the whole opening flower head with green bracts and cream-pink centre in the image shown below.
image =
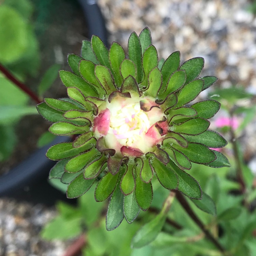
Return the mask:
[(46, 156), (60, 160), (50, 177), (69, 184), (68, 198), (83, 195), (98, 182), (96, 201), (112, 195), (108, 230), (124, 217), (133, 222), (140, 209), (150, 207), (154, 176), (169, 190), (201, 199), (200, 185), (187, 173), (191, 162), (229, 166), (224, 155), (209, 149), (227, 144), (208, 130), (208, 119), (220, 104), (205, 100), (189, 105), (217, 81), (199, 77), (204, 59), (180, 65), (180, 53), (174, 52), (160, 64), (148, 28), (139, 37), (131, 34), (128, 56), (115, 42), (108, 50), (95, 35), (83, 42), (81, 55), (68, 56), (73, 73), (59, 72), (69, 98), (47, 98), (38, 105), (39, 113), (54, 122), (49, 131), (80, 134), (73, 142), (49, 148)]

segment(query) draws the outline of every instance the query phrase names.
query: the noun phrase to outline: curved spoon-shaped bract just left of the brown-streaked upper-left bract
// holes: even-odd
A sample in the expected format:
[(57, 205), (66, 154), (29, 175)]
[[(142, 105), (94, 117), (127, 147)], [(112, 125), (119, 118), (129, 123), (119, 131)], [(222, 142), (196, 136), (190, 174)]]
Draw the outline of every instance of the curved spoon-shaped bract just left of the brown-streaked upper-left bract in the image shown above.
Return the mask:
[[(89, 60), (82, 60), (79, 65), (79, 70), (86, 82), (92, 84), (98, 94), (105, 94), (105, 90), (100, 85), (99, 81), (95, 76), (95, 64)], [(88, 95), (93, 96), (93, 95)]]

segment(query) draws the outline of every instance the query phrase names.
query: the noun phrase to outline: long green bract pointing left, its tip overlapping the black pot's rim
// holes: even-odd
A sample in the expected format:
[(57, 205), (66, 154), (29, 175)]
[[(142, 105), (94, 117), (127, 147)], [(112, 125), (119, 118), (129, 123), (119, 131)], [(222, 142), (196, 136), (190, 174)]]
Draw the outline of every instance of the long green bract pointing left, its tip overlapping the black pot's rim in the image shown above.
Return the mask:
[(62, 142), (50, 147), (46, 156), (51, 160), (60, 160), (72, 156), (76, 156), (86, 150), (89, 150), (96, 143), (95, 138), (91, 138), (82, 147), (73, 147), (72, 142)]

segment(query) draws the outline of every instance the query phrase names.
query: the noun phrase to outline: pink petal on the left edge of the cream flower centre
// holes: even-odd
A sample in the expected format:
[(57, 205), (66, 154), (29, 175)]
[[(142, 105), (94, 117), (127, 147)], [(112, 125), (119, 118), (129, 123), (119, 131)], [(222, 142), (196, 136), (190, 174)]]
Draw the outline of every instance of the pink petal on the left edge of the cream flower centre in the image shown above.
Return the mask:
[(110, 110), (105, 109), (94, 118), (93, 131), (98, 131), (101, 135), (106, 135), (109, 131), (110, 125)]

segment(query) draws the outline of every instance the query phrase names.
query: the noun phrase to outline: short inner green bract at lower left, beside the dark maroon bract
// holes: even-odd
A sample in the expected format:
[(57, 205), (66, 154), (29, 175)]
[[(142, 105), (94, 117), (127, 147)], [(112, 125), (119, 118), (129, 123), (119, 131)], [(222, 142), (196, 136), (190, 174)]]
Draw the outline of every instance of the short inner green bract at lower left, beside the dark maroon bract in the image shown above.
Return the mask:
[(96, 178), (105, 167), (106, 156), (101, 154), (93, 162), (91, 162), (84, 170), (84, 177), (86, 180)]

